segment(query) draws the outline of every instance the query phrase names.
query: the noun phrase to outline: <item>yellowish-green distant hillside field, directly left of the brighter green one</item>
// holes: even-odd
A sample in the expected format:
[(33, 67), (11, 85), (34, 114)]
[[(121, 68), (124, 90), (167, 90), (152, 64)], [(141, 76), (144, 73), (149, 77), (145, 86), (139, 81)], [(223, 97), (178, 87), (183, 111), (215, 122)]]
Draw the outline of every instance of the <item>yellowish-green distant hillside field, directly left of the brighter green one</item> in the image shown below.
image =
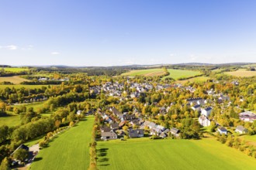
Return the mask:
[(163, 69), (145, 69), (145, 70), (131, 70), (123, 73), (121, 76), (161, 76), (164, 75)]

